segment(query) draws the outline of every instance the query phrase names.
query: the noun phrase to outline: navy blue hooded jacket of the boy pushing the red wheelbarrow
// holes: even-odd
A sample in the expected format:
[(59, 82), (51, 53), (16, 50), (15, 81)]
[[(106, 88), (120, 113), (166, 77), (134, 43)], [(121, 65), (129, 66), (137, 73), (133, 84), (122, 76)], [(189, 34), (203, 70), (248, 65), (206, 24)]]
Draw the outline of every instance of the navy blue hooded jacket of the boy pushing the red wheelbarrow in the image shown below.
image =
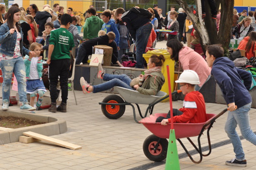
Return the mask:
[(220, 86), (227, 104), (235, 103), (237, 108), (250, 103), (251, 74), (234, 67), (234, 62), (228, 57), (219, 57), (213, 62), (211, 74)]

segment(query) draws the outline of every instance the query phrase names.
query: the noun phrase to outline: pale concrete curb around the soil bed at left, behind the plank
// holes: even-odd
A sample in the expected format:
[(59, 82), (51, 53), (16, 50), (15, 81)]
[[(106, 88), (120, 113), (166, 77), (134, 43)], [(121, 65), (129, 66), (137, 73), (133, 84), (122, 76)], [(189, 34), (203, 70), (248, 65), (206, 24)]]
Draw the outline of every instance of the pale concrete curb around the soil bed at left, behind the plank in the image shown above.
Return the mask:
[(29, 127), (21, 127), (17, 129), (9, 129), (6, 131), (0, 131), (0, 144), (9, 144), (19, 141), (19, 136), (22, 136), (23, 132), (31, 131), (46, 136), (52, 136), (56, 134), (62, 134), (67, 132), (66, 121), (62, 118), (49, 117), (44, 115), (36, 115), (34, 113), (22, 113), (12, 110), (3, 111), (0, 110), (0, 116), (13, 116), (22, 117), (37, 122), (44, 122), (45, 124), (34, 125)]

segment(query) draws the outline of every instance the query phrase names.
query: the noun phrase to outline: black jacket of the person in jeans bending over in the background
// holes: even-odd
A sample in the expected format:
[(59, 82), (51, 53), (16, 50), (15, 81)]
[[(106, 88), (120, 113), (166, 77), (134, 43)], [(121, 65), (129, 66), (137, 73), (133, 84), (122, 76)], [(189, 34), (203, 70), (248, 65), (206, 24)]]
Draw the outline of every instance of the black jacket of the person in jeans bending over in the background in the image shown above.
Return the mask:
[(152, 14), (144, 9), (132, 8), (122, 15), (122, 21), (129, 30), (130, 35), (136, 40), (136, 30), (150, 22)]

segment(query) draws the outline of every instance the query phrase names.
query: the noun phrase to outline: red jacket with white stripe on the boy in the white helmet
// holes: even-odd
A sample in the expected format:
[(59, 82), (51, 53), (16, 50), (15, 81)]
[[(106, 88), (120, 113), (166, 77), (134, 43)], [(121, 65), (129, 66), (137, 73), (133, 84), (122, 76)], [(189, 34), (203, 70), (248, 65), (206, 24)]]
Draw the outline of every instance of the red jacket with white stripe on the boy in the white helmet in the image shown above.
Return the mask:
[[(174, 116), (174, 122), (179, 123), (201, 123), (206, 122), (205, 100), (198, 91), (192, 91), (186, 94), (183, 102), (183, 108), (179, 109), (182, 115)], [(171, 118), (168, 119), (171, 122)]]

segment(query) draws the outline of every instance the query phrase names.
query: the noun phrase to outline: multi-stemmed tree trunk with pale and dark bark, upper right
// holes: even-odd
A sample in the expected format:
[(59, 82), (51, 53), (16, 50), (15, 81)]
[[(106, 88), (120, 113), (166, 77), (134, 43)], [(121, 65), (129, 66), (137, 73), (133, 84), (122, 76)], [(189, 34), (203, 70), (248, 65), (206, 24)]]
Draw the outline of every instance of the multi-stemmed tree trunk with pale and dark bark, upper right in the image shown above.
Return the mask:
[[(230, 41), (230, 31), (233, 20), (233, 8), (234, 0), (215, 0), (216, 10), (218, 11), (221, 4), (221, 18), (220, 18), (220, 28), (217, 34), (216, 22), (212, 19), (212, 14), (210, 10), (210, 5), (207, 0), (205, 0), (205, 25), (202, 21), (202, 6), (201, 0), (196, 0), (197, 14), (193, 14), (190, 11), (185, 0), (176, 0), (176, 2), (181, 5), (185, 10), (188, 17), (191, 18), (193, 22), (194, 29), (198, 32), (201, 38), (201, 45), (205, 51), (206, 45), (220, 43), (223, 47), (228, 48)], [(199, 16), (199, 17), (198, 17)]]

